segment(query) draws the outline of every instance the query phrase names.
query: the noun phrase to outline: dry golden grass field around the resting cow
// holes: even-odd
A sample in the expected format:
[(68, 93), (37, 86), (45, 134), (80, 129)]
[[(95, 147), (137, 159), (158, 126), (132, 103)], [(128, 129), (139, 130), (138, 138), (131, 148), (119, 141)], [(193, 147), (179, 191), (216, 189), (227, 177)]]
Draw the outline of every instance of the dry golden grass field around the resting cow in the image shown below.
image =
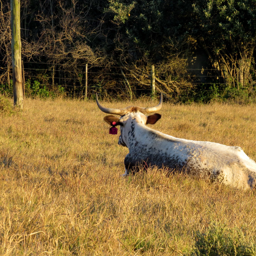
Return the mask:
[[(164, 103), (159, 113), (156, 130), (241, 146), (256, 160), (256, 105)], [(105, 115), (62, 99), (0, 114), (0, 255), (190, 255), (194, 231), (214, 221), (256, 237), (255, 191), (164, 170), (121, 178), (128, 149)]]

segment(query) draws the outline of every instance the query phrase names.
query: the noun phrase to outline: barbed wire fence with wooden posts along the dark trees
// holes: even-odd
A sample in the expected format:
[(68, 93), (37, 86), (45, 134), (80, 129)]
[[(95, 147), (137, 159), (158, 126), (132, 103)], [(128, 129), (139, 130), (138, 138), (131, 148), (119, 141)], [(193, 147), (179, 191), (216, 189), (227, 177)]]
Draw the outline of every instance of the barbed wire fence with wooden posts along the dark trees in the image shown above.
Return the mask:
[[(32, 90), (28, 88), (37, 87), (38, 89), (58, 88), (67, 96), (74, 98), (92, 98), (96, 92), (102, 97), (130, 98), (140, 95), (153, 96), (156, 92), (163, 92), (166, 98), (177, 100), (188, 97), (187, 94), (193, 92), (193, 88), (199, 84), (205, 85), (202, 88), (204, 92), (211, 91), (210, 86), (225, 85), (220, 82), (213, 69), (186, 69), (186, 72), (169, 76), (166, 80), (165, 75), (157, 68), (156, 72), (152, 73), (152, 69), (150, 72), (147, 68), (138, 70), (136, 67), (87, 64), (76, 65), (76, 70), (72, 70), (72, 67), (69, 64), (24, 62), (24, 92), (27, 94), (25, 96), (32, 94)], [(140, 74), (136, 77), (134, 74), (138, 73)], [(0, 83), (5, 84), (5, 88), (7, 86), (10, 88), (11, 77), (11, 70), (0, 68), (0, 78), (2, 78)], [(183, 86), (180, 86), (182, 83)]]

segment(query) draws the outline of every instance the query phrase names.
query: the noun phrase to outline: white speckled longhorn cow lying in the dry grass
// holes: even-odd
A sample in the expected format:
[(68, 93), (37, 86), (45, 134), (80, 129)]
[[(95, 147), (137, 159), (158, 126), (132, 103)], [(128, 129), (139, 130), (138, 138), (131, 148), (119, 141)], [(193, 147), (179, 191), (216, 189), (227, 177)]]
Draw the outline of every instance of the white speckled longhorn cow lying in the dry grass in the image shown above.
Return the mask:
[(96, 94), (100, 110), (108, 114), (104, 120), (111, 126), (120, 126), (118, 144), (126, 146), (129, 153), (124, 159), (125, 174), (138, 170), (138, 166), (157, 166), (183, 170), (198, 178), (222, 182), (235, 188), (254, 188), (256, 184), (256, 162), (238, 146), (226, 146), (214, 142), (175, 138), (146, 126), (155, 124), (162, 107), (140, 108), (131, 106), (123, 109), (105, 108)]

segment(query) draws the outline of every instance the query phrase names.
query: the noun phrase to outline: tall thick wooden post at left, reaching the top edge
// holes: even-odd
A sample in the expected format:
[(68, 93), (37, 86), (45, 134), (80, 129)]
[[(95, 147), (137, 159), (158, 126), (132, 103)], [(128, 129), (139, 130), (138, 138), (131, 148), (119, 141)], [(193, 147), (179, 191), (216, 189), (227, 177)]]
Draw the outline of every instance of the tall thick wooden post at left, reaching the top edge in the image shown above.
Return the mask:
[(23, 108), (21, 40), (20, 40), (20, 0), (11, 0), (12, 21), (12, 84), (13, 104)]

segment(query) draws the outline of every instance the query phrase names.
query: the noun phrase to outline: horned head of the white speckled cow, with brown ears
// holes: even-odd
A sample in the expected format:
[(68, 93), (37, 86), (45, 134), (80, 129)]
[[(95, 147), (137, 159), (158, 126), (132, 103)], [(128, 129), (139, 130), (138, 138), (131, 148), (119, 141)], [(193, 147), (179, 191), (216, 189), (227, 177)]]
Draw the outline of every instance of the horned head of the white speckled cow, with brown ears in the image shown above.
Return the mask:
[(161, 118), (160, 114), (153, 114), (150, 116), (146, 116), (146, 114), (160, 110), (162, 108), (162, 98), (163, 97), (161, 93), (159, 104), (157, 106), (149, 108), (140, 108), (137, 106), (130, 106), (121, 109), (105, 108), (102, 105), (100, 105), (97, 94), (96, 103), (102, 112), (121, 116), (120, 118), (113, 115), (105, 116), (104, 121), (110, 124), (111, 126), (120, 126), (121, 135), (119, 137), (118, 144), (122, 146), (128, 146), (128, 138), (132, 130), (134, 129), (135, 123), (143, 125), (155, 124)]

